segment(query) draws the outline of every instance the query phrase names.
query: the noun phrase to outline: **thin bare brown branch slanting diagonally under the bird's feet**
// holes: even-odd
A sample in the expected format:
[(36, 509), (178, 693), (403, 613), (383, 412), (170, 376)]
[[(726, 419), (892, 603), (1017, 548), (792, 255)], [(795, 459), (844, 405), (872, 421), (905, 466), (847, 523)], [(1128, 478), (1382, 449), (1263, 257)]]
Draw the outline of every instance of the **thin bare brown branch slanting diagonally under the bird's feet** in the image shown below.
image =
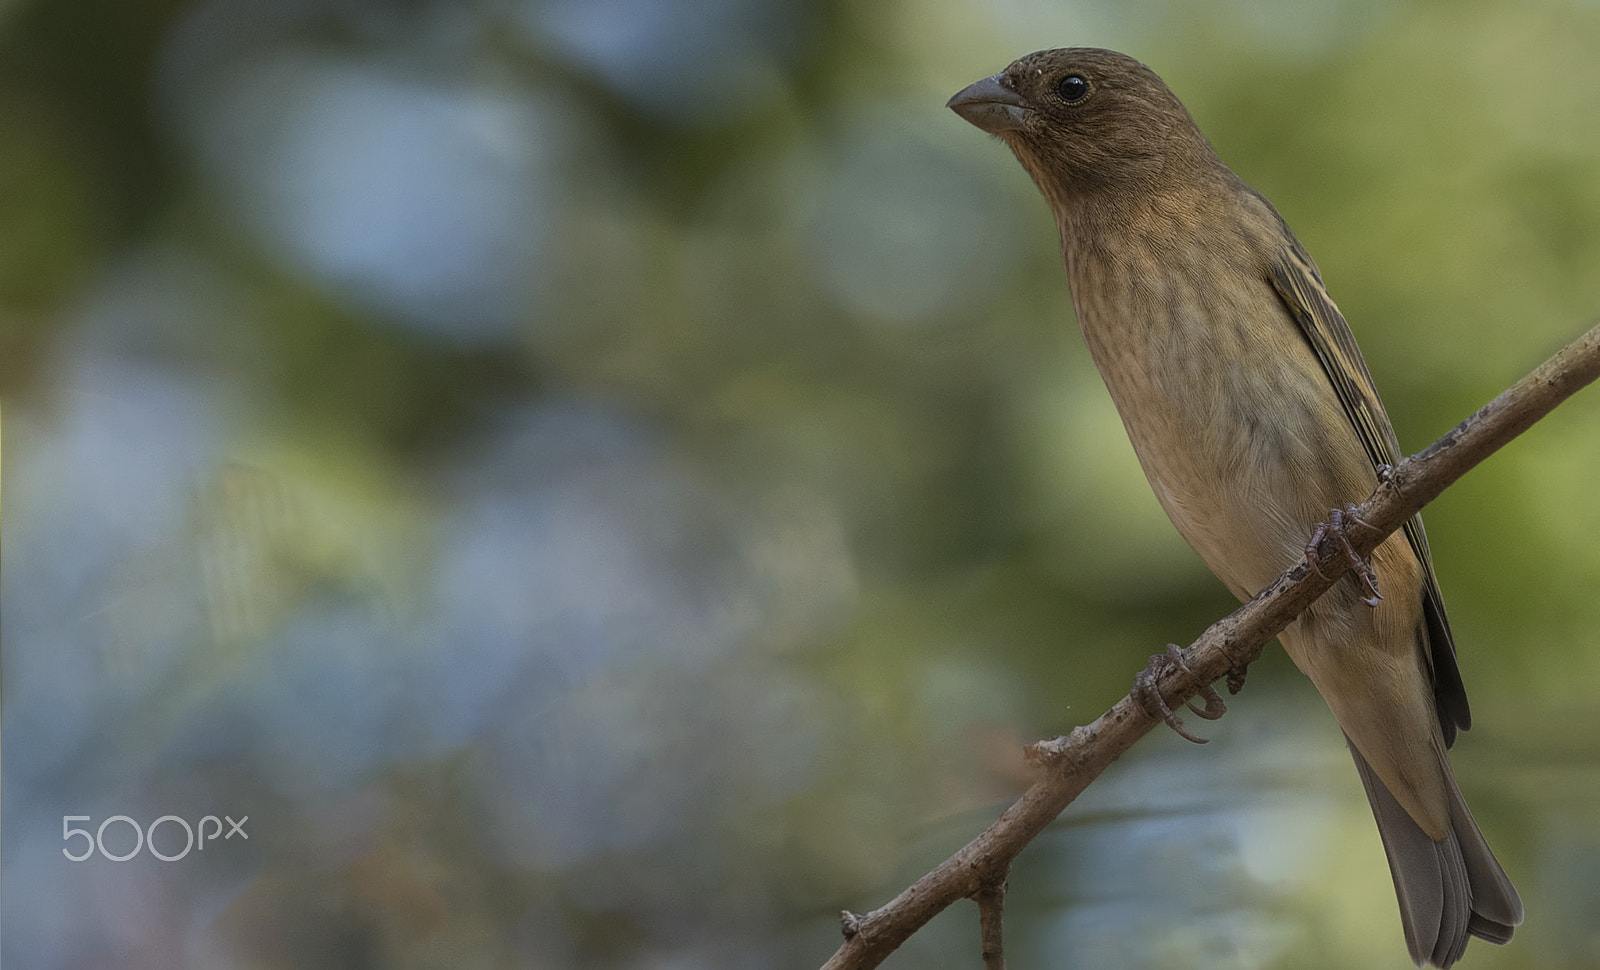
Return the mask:
[[(1514, 437), (1549, 415), (1555, 405), (1600, 376), (1600, 325), (1558, 351), (1531, 375), (1483, 405), (1442, 439), (1400, 461), (1392, 474), (1357, 511), (1349, 536), (1357, 552), (1368, 555), (1389, 533), (1400, 528), (1422, 506)], [(1262, 647), (1326, 592), (1349, 568), (1330, 547), (1322, 559), (1326, 575), (1296, 565), (1248, 603), (1213, 623), (1190, 643), (1184, 659), (1203, 683), (1226, 674), (1237, 675)], [(1174, 709), (1192, 698), (1194, 682), (1168, 669), (1157, 687)], [(1093, 723), (1074, 728), (1066, 738), (1040, 741), (1029, 748), (1029, 759), (1040, 772), (1022, 797), (989, 829), (968, 842), (931, 872), (914, 882), (885, 906), (866, 916), (845, 912), (845, 943), (822, 970), (877, 967), (912, 933), (938, 912), (963, 898), (974, 898), (984, 922), (986, 957), (990, 938), (998, 949), (1000, 908), (1011, 861), (1133, 743), (1158, 722), (1131, 696), (1123, 696)], [(995, 924), (992, 928), (989, 924)]]

